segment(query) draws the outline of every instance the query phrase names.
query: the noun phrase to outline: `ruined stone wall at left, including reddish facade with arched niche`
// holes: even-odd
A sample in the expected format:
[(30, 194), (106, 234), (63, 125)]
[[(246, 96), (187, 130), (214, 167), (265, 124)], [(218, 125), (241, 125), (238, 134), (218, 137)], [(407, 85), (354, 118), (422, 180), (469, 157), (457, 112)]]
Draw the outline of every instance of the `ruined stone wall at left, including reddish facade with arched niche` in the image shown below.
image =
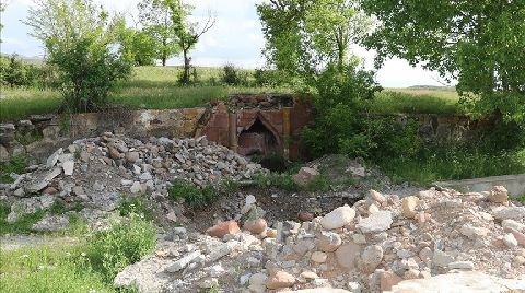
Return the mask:
[(206, 136), (243, 155), (276, 152), (298, 159), (296, 137), (312, 118), (310, 98), (292, 95), (234, 95), (206, 108), (36, 115), (0, 125), (0, 161), (19, 154), (44, 160), (75, 139), (108, 131), (135, 138)]

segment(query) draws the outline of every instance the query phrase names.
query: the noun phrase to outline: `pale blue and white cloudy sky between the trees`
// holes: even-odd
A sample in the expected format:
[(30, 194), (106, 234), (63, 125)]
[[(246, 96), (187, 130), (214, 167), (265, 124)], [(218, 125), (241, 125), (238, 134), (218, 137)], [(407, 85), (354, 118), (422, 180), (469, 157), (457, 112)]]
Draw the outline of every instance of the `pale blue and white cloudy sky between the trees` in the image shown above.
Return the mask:
[[(30, 28), (21, 20), (27, 16), (33, 0), (0, 0), (7, 3), (1, 14), (4, 28), (1, 33), (1, 52), (19, 54), (24, 57), (42, 57), (43, 45), (28, 35)], [(126, 12), (128, 23), (137, 19), (137, 3), (140, 0), (94, 0), (113, 12)], [(215, 25), (206, 33), (191, 52), (196, 66), (223, 66), (234, 63), (243, 68), (265, 66), (261, 49), (265, 38), (255, 4), (262, 0), (188, 0), (195, 7), (195, 17), (206, 17), (208, 12), (217, 16)], [(363, 58), (366, 69), (373, 69), (374, 51), (352, 46), (352, 50)], [(170, 59), (168, 65), (180, 65), (180, 58)], [(443, 85), (438, 73), (411, 67), (406, 60), (389, 59), (377, 70), (377, 82), (385, 87), (407, 87), (411, 85)]]

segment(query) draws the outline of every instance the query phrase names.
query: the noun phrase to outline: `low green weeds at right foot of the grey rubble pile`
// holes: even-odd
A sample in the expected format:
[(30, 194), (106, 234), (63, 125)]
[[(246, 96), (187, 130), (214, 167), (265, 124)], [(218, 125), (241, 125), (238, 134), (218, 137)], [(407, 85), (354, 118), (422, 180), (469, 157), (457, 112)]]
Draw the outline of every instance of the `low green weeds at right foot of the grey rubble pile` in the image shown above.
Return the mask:
[(184, 199), (185, 202), (194, 208), (201, 208), (213, 202), (218, 195), (219, 191), (211, 185), (198, 188), (192, 183), (184, 179), (175, 179), (168, 189), (170, 199), (174, 201)]

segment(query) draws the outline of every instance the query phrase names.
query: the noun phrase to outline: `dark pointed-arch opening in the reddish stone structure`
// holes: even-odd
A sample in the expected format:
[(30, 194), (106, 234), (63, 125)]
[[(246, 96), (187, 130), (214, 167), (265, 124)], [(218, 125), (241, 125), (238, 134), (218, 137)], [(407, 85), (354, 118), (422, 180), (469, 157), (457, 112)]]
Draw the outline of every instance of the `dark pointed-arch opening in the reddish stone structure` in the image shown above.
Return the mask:
[(238, 134), (237, 152), (242, 155), (265, 155), (280, 153), (276, 134), (257, 117), (254, 124)]

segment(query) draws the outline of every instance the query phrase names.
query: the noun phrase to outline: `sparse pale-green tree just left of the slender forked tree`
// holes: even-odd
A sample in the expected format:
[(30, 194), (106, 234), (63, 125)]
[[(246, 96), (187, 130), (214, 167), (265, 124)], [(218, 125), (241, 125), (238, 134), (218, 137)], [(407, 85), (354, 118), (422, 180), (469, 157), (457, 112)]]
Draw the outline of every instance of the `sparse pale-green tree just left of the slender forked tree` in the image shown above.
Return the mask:
[(154, 40), (156, 58), (162, 61), (162, 66), (166, 66), (166, 60), (180, 51), (172, 15), (172, 7), (176, 5), (177, 0), (142, 0), (138, 4), (143, 32)]

